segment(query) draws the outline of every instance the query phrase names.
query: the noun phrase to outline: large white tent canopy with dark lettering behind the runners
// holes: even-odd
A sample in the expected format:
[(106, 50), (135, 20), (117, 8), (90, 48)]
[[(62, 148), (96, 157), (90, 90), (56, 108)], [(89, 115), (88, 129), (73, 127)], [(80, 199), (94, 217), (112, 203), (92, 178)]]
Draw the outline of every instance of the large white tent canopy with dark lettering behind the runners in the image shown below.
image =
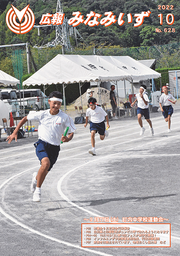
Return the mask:
[(160, 73), (129, 56), (57, 55), (23, 85), (152, 79)]

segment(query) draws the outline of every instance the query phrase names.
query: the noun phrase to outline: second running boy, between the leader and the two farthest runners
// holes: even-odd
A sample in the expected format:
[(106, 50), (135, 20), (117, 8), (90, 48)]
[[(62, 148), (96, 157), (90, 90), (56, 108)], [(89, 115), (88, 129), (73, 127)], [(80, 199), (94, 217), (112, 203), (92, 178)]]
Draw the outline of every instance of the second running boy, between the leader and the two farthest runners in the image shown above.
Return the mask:
[(91, 144), (92, 149), (88, 152), (93, 156), (96, 156), (95, 151), (95, 134), (98, 132), (100, 139), (104, 140), (105, 136), (108, 136), (108, 131), (106, 131), (104, 118), (106, 117), (107, 128), (110, 127), (107, 113), (101, 108), (96, 106), (96, 99), (91, 97), (88, 99), (89, 108), (86, 111), (86, 123), (84, 127), (86, 128), (88, 123), (88, 118), (90, 116), (90, 133), (91, 133)]

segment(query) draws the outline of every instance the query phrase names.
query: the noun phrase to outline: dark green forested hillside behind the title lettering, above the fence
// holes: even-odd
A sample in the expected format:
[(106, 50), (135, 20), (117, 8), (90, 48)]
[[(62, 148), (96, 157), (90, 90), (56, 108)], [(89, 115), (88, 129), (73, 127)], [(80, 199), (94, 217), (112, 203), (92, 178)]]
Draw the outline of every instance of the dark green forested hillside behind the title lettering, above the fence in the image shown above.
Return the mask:
[[(40, 29), (40, 36), (38, 36), (37, 29), (32, 29), (25, 35), (17, 35), (11, 32), (6, 25), (6, 13), (11, 8), (10, 3), (21, 10), (28, 4), (34, 12), (36, 21), (39, 25), (42, 14), (56, 13), (57, 0), (8, 0), (0, 1), (0, 44), (14, 44), (29, 42), (32, 46), (41, 46), (55, 38), (55, 29), (42, 28)], [(168, 9), (173, 5), (173, 9)], [(158, 10), (158, 6), (163, 6), (163, 9)], [(79, 24), (77, 26), (82, 38), (87, 44), (95, 42), (96, 45), (119, 45), (121, 47), (139, 47), (150, 46), (152, 44), (168, 44), (180, 41), (180, 6), (179, 0), (171, 0), (167, 3), (165, 0), (62, 0), (63, 11), (65, 17), (70, 19), (73, 17), (73, 12), (81, 12), (86, 19), (86, 15), (91, 11), (101, 14), (103, 18), (104, 12), (113, 12), (118, 20), (119, 14), (124, 13), (124, 24), (118, 25), (118, 22), (113, 23), (108, 27), (99, 24), (98, 26), (86, 26), (85, 24)], [(164, 6), (166, 7), (164, 9)], [(172, 7), (171, 7), (172, 8)], [(145, 17), (143, 24), (138, 27), (134, 27), (135, 17), (134, 14), (141, 12), (151, 12), (150, 17)], [(132, 23), (127, 23), (127, 14), (131, 13)], [(166, 15), (172, 13), (174, 15), (174, 24), (169, 26), (166, 22)], [(159, 14), (162, 14), (163, 25), (160, 25)], [(100, 20), (100, 19), (98, 19)], [(169, 18), (171, 21), (171, 17)], [(155, 32), (155, 29), (159, 28), (162, 32)], [(175, 32), (164, 32), (164, 28), (174, 28)], [(71, 38), (71, 43), (76, 46), (74, 38)], [(82, 39), (78, 41), (78, 44), (84, 43)]]

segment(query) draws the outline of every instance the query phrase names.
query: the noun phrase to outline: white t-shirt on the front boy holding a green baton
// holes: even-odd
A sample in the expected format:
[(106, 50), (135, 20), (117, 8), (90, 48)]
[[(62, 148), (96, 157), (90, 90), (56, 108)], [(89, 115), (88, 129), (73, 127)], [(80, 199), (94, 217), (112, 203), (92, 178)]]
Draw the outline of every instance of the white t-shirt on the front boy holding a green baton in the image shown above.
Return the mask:
[(68, 134), (76, 130), (73, 119), (61, 110), (57, 115), (51, 115), (50, 109), (37, 112), (30, 111), (27, 119), (39, 121), (39, 139), (51, 145), (60, 145), (62, 134), (67, 127), (69, 127)]

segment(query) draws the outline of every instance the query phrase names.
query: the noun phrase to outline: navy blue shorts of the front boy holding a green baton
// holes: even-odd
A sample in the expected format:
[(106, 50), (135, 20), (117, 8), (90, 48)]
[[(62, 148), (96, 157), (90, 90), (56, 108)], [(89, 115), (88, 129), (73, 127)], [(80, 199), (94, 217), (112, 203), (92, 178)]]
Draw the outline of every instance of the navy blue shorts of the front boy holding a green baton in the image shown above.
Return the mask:
[(36, 148), (36, 155), (41, 162), (42, 158), (48, 157), (50, 160), (50, 167), (48, 172), (51, 170), (53, 165), (56, 163), (56, 160), (59, 155), (60, 146), (51, 145), (43, 140), (38, 140), (34, 143), (34, 147)]

